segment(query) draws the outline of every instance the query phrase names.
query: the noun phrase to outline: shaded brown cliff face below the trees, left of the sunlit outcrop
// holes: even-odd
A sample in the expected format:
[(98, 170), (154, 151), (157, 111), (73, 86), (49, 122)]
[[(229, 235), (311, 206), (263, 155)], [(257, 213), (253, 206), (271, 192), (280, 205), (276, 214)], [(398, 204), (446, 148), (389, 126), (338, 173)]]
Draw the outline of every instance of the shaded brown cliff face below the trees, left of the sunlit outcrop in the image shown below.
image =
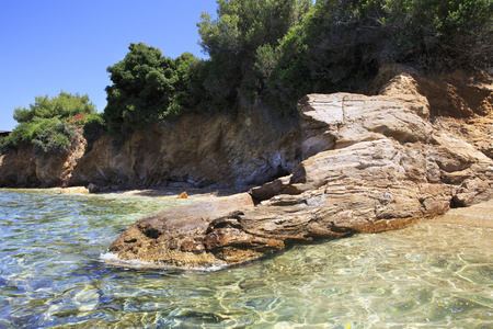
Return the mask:
[(110, 137), (98, 140), (80, 159), (71, 184), (260, 184), (301, 161), (298, 138), (297, 120), (259, 109), (241, 109), (234, 118), (190, 114), (134, 133), (119, 146)]

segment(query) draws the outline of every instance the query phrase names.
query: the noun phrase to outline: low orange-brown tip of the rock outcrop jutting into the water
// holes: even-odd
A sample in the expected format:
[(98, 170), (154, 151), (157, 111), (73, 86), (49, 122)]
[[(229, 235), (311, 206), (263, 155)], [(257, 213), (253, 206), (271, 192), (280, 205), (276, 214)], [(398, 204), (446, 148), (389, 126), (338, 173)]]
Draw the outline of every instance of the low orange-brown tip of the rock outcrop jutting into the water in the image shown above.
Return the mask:
[(173, 207), (135, 223), (112, 243), (110, 250), (121, 259), (163, 265), (226, 264), (226, 261), (204, 252), (204, 234), (211, 218), (243, 207), (253, 207), (248, 193)]

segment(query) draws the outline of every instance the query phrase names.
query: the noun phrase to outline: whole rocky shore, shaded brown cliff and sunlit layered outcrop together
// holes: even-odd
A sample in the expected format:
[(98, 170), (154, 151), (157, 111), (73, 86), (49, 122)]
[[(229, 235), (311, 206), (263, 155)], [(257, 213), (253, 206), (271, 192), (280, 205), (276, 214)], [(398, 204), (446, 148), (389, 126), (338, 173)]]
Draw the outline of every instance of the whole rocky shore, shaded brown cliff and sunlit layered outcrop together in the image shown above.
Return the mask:
[(366, 95), (310, 94), (298, 112), (284, 123), (262, 111), (186, 117), (124, 145), (103, 138), (87, 154), (74, 149), (56, 170), (47, 170), (54, 159), (24, 150), (0, 158), (0, 177), (214, 196), (144, 217), (110, 247), (122, 260), (184, 268), (402, 228), (493, 198), (491, 77), (425, 79), (393, 68)]

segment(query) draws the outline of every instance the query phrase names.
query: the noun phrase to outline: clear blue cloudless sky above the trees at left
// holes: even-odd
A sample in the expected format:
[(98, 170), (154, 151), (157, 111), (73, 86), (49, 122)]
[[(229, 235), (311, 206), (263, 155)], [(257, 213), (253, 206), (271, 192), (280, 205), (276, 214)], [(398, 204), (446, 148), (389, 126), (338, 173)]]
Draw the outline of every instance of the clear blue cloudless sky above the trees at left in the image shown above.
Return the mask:
[(196, 22), (216, 8), (215, 0), (0, 0), (0, 131), (14, 128), (15, 107), (61, 90), (89, 94), (103, 112), (106, 68), (130, 43), (205, 58)]

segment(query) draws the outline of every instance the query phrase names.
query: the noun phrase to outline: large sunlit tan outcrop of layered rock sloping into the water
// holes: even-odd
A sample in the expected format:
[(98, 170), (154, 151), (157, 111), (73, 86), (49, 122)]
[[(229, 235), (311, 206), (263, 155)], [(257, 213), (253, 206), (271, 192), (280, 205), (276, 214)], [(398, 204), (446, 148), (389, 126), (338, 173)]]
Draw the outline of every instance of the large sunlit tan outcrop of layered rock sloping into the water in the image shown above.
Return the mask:
[(400, 228), (490, 200), (493, 160), (482, 151), (491, 149), (483, 145), (490, 136), (471, 144), (463, 127), (429, 120), (434, 109), (412, 76), (392, 80), (382, 95), (302, 99), (291, 148), (305, 160), (252, 189), (255, 205), (192, 216), (177, 207), (138, 220), (110, 250), (162, 265), (237, 264), (291, 243)]

